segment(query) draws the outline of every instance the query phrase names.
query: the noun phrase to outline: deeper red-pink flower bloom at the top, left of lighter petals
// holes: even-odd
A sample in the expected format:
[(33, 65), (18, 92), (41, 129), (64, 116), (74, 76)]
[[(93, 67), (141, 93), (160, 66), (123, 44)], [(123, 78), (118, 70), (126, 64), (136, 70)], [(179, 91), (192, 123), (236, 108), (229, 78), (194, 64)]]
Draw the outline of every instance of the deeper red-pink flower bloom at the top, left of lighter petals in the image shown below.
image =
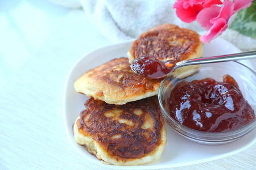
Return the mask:
[(205, 7), (220, 5), (220, 0), (178, 0), (174, 3), (177, 17), (186, 23), (196, 20), (197, 14)]

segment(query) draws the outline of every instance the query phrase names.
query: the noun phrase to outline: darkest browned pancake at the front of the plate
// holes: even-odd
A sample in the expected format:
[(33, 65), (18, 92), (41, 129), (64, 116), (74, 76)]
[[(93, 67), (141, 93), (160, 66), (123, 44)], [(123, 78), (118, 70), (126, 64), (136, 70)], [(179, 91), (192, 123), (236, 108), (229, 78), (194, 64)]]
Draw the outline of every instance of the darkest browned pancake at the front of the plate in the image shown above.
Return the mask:
[(74, 126), (75, 141), (105, 164), (141, 165), (160, 159), (166, 129), (158, 97), (127, 103), (85, 101)]

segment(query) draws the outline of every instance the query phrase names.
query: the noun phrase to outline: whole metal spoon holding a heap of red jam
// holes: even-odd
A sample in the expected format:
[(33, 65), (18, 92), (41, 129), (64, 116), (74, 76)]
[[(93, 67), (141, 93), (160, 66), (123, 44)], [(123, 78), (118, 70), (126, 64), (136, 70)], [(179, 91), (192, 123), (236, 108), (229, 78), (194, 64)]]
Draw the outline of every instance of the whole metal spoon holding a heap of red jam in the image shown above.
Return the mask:
[(183, 60), (177, 63), (171, 60), (160, 61), (154, 58), (153, 56), (146, 55), (139, 58), (135, 58), (134, 61), (131, 63), (131, 70), (133, 70), (134, 73), (138, 75), (144, 76), (145, 78), (164, 79), (172, 71), (183, 66), (199, 65), (214, 62), (237, 61), (251, 58), (256, 58), (256, 51), (226, 54), (222, 56), (193, 58)]

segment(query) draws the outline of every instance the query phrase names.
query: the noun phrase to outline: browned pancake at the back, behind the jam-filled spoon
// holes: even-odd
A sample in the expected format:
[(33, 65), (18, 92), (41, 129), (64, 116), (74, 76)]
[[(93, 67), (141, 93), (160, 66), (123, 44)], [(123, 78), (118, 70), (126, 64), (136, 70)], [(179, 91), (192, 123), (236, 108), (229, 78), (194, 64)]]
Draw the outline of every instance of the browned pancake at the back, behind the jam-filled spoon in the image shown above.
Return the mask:
[[(203, 44), (195, 31), (179, 28), (173, 24), (163, 24), (149, 29), (131, 44), (127, 53), (129, 63), (142, 55), (151, 54), (155, 58), (174, 62), (203, 56)], [(172, 75), (176, 76), (183, 71), (199, 67), (185, 66), (176, 69)], [(191, 73), (193, 74), (193, 73)]]

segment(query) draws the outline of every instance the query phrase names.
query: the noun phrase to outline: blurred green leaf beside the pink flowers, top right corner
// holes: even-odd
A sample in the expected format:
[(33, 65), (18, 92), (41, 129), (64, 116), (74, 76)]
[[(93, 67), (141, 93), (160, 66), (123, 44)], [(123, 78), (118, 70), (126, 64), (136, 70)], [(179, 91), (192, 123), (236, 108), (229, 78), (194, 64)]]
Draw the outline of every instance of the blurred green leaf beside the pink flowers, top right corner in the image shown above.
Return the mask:
[(237, 12), (236, 18), (229, 28), (242, 35), (256, 38), (256, 0), (251, 3), (250, 7)]

